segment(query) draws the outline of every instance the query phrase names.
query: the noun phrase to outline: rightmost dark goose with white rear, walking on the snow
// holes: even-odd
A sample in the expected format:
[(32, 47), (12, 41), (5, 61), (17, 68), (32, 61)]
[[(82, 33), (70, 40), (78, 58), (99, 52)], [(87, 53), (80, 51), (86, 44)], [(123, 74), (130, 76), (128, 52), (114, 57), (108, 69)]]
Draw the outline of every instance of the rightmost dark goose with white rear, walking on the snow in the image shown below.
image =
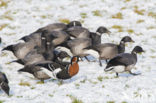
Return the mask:
[(142, 53), (144, 50), (140, 46), (136, 46), (131, 54), (130, 53), (121, 53), (118, 54), (116, 57), (112, 58), (106, 68), (104, 69), (105, 72), (107, 71), (114, 71), (118, 76), (118, 73), (122, 73), (128, 71), (132, 75), (138, 75), (131, 72), (131, 69), (135, 68), (135, 64), (137, 63), (137, 53)]

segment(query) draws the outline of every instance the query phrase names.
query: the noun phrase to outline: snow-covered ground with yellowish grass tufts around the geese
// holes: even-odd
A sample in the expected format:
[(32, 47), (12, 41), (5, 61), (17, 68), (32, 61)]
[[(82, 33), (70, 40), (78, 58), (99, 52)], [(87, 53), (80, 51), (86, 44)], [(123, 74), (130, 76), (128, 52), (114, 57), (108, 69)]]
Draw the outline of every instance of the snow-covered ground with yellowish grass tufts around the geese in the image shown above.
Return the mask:
[(115, 78), (105, 73), (98, 62), (80, 62), (80, 72), (61, 83), (37, 83), (30, 74), (19, 74), (22, 65), (11, 52), (0, 51), (0, 69), (10, 83), (11, 96), (0, 92), (0, 103), (156, 103), (156, 0), (0, 0), (0, 49), (18, 43), (19, 38), (39, 27), (55, 22), (79, 20), (95, 31), (106, 26), (112, 35), (103, 34), (102, 42), (119, 43), (129, 35), (146, 51), (138, 55), (139, 76), (127, 73)]

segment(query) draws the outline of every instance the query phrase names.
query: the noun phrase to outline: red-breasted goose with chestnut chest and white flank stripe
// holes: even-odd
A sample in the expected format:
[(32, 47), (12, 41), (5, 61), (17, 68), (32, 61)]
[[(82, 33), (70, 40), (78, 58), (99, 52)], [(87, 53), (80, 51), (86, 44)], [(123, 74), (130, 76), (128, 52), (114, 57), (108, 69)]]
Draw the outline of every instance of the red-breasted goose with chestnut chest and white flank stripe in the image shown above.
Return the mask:
[(70, 79), (71, 77), (75, 76), (79, 72), (79, 65), (78, 65), (79, 57), (74, 56), (71, 59), (70, 63), (61, 63), (57, 65), (55, 63), (44, 63), (44, 64), (37, 64), (37, 66), (41, 66), (48, 70), (51, 70), (53, 74), (53, 78), (55, 79)]

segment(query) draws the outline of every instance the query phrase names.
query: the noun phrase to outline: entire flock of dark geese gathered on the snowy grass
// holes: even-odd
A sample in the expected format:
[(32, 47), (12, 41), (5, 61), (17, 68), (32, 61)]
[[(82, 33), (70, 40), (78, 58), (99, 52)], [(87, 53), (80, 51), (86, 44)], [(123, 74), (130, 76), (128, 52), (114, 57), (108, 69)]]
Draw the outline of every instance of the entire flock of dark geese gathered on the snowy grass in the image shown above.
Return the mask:
[[(135, 46), (131, 53), (125, 52), (125, 43), (134, 42), (125, 36), (119, 44), (101, 43), (103, 33), (111, 32), (103, 26), (95, 32), (82, 27), (79, 21), (69, 24), (53, 23), (39, 28), (30, 35), (22, 37), (23, 42), (9, 45), (2, 51), (11, 51), (17, 58), (12, 61), (24, 65), (18, 72), (27, 72), (44, 82), (46, 79), (69, 79), (79, 72), (78, 62), (84, 57), (88, 62), (88, 55), (99, 60), (106, 60), (104, 71), (118, 73), (131, 72), (137, 62), (137, 53), (144, 52), (140, 46)], [(1, 42), (1, 39), (0, 39)], [(0, 85), (9, 95), (8, 79), (0, 72)]]

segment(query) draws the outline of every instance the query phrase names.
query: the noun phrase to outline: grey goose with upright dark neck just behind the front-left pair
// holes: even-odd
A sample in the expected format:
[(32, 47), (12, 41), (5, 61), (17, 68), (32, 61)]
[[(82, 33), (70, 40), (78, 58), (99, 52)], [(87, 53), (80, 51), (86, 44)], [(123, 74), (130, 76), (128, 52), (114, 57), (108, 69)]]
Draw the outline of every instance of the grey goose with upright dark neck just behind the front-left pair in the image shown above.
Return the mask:
[[(18, 59), (12, 62), (18, 62), (22, 65), (29, 65), (34, 64), (41, 61), (50, 61), (53, 60), (54, 54), (54, 46), (51, 42), (47, 41), (46, 39), (42, 40), (42, 46), (41, 47), (35, 47), (33, 50), (31, 50), (23, 59)], [(45, 48), (44, 51), (42, 51)]]

